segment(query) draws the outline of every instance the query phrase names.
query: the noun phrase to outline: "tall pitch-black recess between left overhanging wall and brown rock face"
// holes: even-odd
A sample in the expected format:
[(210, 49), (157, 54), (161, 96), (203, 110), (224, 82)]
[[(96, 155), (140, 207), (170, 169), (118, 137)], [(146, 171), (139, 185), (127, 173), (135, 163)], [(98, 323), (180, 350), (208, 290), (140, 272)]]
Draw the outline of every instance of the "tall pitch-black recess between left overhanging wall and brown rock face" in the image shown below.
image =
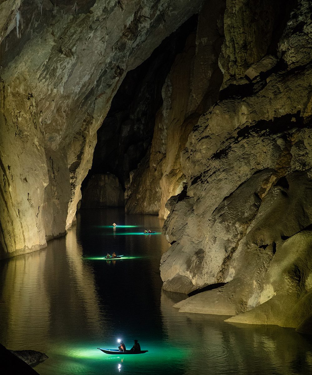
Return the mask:
[(155, 114), (163, 103), (161, 90), (173, 60), (196, 26), (194, 15), (164, 39), (145, 62), (127, 73), (97, 132), (93, 165), (82, 191), (93, 174), (106, 172), (116, 175), (125, 187), (129, 172), (137, 168), (151, 145)]

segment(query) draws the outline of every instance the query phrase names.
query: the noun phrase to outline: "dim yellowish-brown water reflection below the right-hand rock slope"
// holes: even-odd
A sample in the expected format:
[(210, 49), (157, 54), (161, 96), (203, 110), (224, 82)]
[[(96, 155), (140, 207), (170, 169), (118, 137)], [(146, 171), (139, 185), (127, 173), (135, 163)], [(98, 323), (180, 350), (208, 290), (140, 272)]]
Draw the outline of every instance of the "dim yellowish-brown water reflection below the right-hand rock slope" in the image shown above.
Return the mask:
[(308, 336), (278, 326), (225, 323), (227, 316), (177, 315), (172, 305), (179, 300), (178, 294), (163, 291), (161, 311), (169, 341), (189, 349), (193, 361), (187, 374), (203, 368), (207, 374), (220, 375), (312, 374)]

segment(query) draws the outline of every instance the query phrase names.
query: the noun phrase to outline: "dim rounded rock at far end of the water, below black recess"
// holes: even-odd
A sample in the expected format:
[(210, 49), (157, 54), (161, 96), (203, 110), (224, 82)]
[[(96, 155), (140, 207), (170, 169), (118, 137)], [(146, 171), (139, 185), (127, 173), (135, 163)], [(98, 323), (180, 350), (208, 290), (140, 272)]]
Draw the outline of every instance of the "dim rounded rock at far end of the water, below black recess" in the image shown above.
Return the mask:
[(124, 192), (113, 174), (94, 174), (84, 190), (81, 207), (124, 207)]

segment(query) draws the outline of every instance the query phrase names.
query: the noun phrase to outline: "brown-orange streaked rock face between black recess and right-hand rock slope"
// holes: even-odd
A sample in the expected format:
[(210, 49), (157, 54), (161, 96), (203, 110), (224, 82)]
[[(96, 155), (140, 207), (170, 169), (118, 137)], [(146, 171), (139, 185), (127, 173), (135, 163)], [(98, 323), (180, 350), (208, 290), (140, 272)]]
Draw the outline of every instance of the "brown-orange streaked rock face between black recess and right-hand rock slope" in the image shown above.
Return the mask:
[(205, 3), (196, 31), (172, 65), (162, 90), (163, 105), (156, 115), (151, 150), (127, 185), (127, 212), (158, 213), (165, 218), (167, 200), (183, 188), (181, 152), (200, 114), (218, 99), (222, 82), (218, 56), (224, 8), (224, 1)]

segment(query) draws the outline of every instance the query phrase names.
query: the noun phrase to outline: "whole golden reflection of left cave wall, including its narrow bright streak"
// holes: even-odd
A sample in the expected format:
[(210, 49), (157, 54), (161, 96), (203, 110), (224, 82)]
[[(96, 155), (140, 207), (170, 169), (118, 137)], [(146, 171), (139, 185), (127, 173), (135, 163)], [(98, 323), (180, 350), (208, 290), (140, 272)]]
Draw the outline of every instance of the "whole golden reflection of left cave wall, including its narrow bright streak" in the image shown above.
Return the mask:
[(1, 342), (11, 349), (42, 351), (51, 332), (72, 339), (82, 327), (101, 329), (94, 275), (75, 228), (47, 249), (2, 263), (1, 286)]

